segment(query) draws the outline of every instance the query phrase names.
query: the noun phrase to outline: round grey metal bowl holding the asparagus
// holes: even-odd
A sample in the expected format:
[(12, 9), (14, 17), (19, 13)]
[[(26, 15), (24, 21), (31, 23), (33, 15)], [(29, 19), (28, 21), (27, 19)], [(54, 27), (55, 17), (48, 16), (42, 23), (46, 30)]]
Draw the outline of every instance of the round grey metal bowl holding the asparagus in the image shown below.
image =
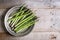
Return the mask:
[(9, 23), (7, 22), (8, 18), (9, 18), (9, 15), (11, 15), (13, 12), (16, 12), (19, 8), (20, 8), (21, 5), (19, 6), (14, 6), (12, 7), (5, 15), (5, 19), (4, 19), (4, 24), (5, 24), (5, 28), (6, 30), (13, 36), (24, 36), (28, 33), (31, 32), (31, 30), (33, 29), (34, 25), (29, 27), (28, 29), (26, 29), (25, 31), (23, 32), (19, 32), (19, 33), (15, 33), (14, 31), (11, 30), (10, 26), (9, 26)]

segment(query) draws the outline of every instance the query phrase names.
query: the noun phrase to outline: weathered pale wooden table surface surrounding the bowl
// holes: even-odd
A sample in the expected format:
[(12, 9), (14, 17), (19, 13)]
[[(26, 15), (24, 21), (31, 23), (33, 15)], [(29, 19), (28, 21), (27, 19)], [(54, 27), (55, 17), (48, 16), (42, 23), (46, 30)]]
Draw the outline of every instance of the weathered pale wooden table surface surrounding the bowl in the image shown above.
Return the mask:
[(4, 16), (10, 7), (19, 4), (21, 0), (6, 1), (0, 1), (0, 40), (60, 40), (60, 6), (52, 5), (51, 0), (48, 1), (47, 4), (44, 3), (44, 0), (37, 0), (41, 3), (39, 4), (39, 8), (37, 8), (37, 12), (39, 12), (37, 14), (39, 21), (28, 35), (23, 37), (14, 37), (8, 34), (4, 27)]

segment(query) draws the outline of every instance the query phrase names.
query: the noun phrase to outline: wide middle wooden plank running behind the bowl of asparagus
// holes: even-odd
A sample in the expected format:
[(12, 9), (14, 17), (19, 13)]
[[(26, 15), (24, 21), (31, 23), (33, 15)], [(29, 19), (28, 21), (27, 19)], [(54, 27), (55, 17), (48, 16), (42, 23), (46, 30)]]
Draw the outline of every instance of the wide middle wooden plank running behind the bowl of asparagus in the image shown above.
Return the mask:
[[(6, 13), (6, 9), (0, 9), (0, 32), (4, 32), (3, 20)], [(59, 31), (59, 25), (54, 26), (56, 17), (60, 14), (60, 9), (38, 9), (35, 11), (39, 17), (39, 21), (36, 22), (33, 31), (39, 32), (56, 32)], [(59, 18), (58, 18), (59, 20)], [(57, 21), (57, 24), (59, 21)], [(60, 23), (59, 23), (60, 24)], [(58, 26), (58, 30), (55, 28)]]

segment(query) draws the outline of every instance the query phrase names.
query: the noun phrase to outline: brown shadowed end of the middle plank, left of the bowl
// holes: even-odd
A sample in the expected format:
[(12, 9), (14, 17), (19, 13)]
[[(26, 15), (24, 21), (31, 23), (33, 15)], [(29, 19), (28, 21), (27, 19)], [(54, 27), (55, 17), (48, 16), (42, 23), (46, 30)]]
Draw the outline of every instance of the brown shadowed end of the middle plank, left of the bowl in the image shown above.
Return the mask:
[(4, 16), (6, 14), (6, 9), (0, 9), (0, 32), (4, 32)]

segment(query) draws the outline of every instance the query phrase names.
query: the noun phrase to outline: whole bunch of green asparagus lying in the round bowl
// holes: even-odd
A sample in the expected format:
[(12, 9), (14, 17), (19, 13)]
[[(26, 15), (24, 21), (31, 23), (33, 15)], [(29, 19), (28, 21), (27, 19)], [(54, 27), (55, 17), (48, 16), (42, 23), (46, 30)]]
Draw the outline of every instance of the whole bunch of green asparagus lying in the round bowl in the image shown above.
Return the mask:
[(30, 9), (26, 8), (25, 5), (22, 5), (14, 15), (10, 16), (8, 22), (11, 29), (18, 33), (34, 25), (36, 18), (37, 17)]

